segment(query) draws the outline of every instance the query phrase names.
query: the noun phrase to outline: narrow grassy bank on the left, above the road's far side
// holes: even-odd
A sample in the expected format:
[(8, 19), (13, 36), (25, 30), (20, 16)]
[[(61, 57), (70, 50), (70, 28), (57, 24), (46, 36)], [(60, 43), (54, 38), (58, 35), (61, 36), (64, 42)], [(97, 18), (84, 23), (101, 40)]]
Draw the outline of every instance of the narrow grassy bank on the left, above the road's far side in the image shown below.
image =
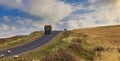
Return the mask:
[(1, 38), (0, 39), (0, 50), (26, 44), (30, 41), (37, 39), (42, 34), (43, 32), (36, 31), (36, 32), (33, 32), (25, 36), (14, 36), (10, 38)]

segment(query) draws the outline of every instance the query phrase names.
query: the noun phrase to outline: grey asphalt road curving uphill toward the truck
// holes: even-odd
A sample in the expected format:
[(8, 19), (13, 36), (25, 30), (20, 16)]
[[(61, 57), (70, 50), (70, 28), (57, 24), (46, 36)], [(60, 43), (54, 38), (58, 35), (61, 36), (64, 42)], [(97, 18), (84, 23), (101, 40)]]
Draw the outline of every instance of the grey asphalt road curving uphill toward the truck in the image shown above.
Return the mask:
[[(51, 34), (43, 35), (40, 38), (38, 38), (37, 40), (34, 40), (28, 44), (14, 47), (14, 48), (10, 48), (10, 49), (6, 49), (6, 50), (2, 50), (2, 51), (0, 51), (0, 55), (4, 54), (5, 57), (14, 56), (14, 55), (18, 55), (20, 53), (24, 53), (24, 52), (30, 51), (32, 49), (38, 48), (38, 47), (46, 44), (50, 40), (52, 40), (58, 33), (60, 33), (60, 31), (53, 31)], [(8, 54), (7, 50), (10, 50), (11, 53)]]

